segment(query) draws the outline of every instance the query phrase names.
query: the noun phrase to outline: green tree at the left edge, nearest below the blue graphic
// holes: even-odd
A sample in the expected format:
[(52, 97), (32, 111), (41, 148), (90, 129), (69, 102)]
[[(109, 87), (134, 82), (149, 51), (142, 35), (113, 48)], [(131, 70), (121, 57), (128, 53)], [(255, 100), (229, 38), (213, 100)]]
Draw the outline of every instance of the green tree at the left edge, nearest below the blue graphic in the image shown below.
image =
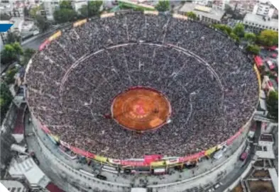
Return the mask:
[(19, 61), (19, 56), (22, 54), (23, 50), (19, 43), (6, 44), (4, 50), (1, 51), (1, 62), (3, 64), (11, 64)]

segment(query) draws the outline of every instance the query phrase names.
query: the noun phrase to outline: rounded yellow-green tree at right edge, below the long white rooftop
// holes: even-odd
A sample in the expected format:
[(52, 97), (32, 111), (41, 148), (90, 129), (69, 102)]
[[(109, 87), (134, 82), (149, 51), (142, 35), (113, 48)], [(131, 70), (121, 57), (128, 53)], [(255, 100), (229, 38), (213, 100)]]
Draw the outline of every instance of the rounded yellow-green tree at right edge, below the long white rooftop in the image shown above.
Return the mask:
[(261, 34), (258, 35), (258, 42), (268, 47), (278, 45), (278, 32), (274, 30), (263, 30)]

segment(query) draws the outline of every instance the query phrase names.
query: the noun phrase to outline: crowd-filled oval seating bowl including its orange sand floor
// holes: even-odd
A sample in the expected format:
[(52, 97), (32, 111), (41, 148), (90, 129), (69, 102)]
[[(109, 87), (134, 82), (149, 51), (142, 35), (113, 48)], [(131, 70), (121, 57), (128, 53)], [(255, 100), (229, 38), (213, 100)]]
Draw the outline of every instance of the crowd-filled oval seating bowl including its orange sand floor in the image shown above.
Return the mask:
[(74, 23), (26, 71), (28, 106), (43, 128), (114, 159), (203, 152), (236, 135), (258, 102), (253, 65), (233, 40), (161, 13)]

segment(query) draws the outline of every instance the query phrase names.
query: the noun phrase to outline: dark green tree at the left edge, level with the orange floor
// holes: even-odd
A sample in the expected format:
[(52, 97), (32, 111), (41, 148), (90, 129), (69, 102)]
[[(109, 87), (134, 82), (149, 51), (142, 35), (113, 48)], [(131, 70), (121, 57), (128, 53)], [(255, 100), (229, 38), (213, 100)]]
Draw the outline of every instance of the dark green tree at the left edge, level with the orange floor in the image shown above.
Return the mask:
[(1, 108), (1, 122), (4, 120), (6, 112), (9, 110), (9, 105), (13, 99), (9, 90), (8, 84), (4, 81), (0, 83), (0, 108)]

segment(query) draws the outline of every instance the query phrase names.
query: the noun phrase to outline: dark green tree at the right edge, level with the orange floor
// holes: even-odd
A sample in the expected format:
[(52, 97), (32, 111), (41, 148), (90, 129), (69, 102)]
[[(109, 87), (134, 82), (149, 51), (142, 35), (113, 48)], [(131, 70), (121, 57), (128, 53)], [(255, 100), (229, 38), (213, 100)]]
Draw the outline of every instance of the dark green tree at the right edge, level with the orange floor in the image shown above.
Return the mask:
[(268, 115), (278, 119), (278, 92), (270, 91), (268, 98), (266, 99), (268, 108)]

